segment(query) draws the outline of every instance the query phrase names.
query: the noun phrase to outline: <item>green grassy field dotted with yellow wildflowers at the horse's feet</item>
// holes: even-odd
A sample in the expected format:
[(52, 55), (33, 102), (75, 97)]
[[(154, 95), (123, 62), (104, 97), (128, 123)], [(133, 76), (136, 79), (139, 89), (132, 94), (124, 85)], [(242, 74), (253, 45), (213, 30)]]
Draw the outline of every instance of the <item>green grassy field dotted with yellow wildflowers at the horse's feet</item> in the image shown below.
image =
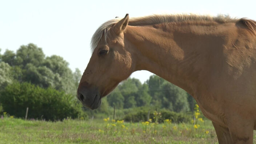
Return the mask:
[[(200, 125), (200, 126), (199, 126)], [(155, 124), (150, 122), (71, 120), (49, 122), (0, 118), (0, 143), (147, 143), (147, 144), (215, 144), (217, 137), (210, 121), (193, 124)], [(254, 140), (254, 143), (256, 141)]]

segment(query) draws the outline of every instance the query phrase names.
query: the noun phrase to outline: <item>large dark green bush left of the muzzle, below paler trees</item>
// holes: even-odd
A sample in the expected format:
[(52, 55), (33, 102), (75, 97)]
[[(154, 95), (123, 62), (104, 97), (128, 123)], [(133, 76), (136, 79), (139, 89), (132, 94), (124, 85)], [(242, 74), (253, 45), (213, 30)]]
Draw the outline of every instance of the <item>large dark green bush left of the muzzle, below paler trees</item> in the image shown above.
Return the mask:
[(62, 120), (81, 116), (81, 104), (72, 95), (53, 88), (43, 89), (30, 83), (13, 83), (0, 92), (4, 111), (15, 117)]

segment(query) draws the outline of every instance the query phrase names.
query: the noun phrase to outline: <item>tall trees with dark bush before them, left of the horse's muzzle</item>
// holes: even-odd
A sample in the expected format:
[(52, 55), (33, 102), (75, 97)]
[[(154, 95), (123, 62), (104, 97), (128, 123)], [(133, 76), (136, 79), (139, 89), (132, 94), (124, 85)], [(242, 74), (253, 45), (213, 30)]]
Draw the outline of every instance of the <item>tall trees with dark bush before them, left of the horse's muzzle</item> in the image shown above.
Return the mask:
[(84, 116), (76, 98), (81, 72), (68, 67), (57, 55), (45, 57), (35, 44), (0, 53), (0, 113), (30, 118), (61, 120)]

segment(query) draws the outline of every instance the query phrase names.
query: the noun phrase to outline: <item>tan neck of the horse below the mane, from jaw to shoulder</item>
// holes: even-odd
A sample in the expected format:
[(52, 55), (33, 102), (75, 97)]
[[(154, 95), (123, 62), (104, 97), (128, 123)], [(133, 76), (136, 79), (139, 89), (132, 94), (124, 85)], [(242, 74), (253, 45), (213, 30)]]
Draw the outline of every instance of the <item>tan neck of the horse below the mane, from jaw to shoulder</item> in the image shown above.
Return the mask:
[(209, 52), (197, 47), (203, 37), (167, 27), (128, 27), (125, 36), (133, 46), (136, 71), (147, 70), (193, 94), (201, 84)]

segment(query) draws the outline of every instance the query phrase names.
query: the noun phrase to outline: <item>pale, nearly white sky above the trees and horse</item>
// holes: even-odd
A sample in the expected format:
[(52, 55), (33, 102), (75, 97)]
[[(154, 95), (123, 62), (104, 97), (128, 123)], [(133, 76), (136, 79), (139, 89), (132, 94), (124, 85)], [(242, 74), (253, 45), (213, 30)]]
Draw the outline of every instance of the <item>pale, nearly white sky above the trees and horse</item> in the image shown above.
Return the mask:
[[(34, 43), (46, 56), (59, 55), (72, 71), (79, 68), (83, 73), (93, 33), (116, 16), (195, 13), (256, 20), (255, 5), (256, 0), (0, 0), (1, 54)], [(137, 71), (131, 77), (143, 83), (150, 75)]]

